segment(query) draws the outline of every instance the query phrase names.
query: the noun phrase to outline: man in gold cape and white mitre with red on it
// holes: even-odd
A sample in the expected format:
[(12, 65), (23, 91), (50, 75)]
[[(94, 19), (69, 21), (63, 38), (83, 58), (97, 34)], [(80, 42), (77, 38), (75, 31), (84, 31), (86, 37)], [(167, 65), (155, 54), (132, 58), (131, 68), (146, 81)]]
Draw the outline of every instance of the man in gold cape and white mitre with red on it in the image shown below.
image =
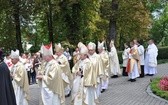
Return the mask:
[(39, 73), (36, 78), (42, 81), (43, 105), (65, 105), (62, 71), (59, 64), (54, 60), (52, 44), (42, 45), (42, 56), (46, 62), (44, 73)]

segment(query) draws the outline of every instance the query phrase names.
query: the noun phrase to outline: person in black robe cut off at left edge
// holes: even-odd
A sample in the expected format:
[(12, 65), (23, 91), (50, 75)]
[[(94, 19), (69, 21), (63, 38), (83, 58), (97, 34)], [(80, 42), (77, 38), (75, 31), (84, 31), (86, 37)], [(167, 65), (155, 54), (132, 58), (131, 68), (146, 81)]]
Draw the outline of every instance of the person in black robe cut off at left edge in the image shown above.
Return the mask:
[(0, 49), (0, 105), (16, 105), (10, 71), (3, 61), (3, 51)]

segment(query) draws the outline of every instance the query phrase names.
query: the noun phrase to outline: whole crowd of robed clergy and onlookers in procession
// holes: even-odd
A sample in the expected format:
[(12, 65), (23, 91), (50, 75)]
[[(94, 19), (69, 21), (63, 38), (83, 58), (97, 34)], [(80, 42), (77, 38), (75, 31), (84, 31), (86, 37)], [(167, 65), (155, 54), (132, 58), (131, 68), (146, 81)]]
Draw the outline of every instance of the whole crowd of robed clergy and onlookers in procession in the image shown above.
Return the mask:
[[(3, 57), (0, 50), (0, 105), (28, 105), (29, 85), (39, 84), (42, 105), (65, 105), (71, 96), (73, 105), (97, 105), (100, 95), (108, 89), (109, 78), (128, 76), (128, 81), (157, 73), (158, 49), (153, 40), (145, 50), (138, 40), (124, 43), (123, 69), (120, 69), (114, 41), (110, 51), (105, 42), (79, 42), (71, 55), (60, 43), (42, 45), (34, 54), (12, 50)], [(98, 49), (98, 53), (96, 52)], [(70, 68), (70, 61), (73, 67)]]

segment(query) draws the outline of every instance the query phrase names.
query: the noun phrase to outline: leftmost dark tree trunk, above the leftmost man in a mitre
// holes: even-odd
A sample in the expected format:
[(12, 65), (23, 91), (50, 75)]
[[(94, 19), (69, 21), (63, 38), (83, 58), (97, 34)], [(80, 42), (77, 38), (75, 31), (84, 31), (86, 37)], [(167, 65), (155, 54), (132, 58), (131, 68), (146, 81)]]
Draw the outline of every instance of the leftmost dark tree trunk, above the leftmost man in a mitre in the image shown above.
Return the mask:
[(18, 0), (13, 0), (13, 7), (14, 7), (14, 22), (15, 22), (15, 29), (16, 29), (16, 43), (17, 43), (17, 49), (21, 53), (23, 53), (23, 48), (22, 48), (22, 41), (21, 41), (21, 30), (20, 30), (20, 7), (19, 7), (19, 1)]

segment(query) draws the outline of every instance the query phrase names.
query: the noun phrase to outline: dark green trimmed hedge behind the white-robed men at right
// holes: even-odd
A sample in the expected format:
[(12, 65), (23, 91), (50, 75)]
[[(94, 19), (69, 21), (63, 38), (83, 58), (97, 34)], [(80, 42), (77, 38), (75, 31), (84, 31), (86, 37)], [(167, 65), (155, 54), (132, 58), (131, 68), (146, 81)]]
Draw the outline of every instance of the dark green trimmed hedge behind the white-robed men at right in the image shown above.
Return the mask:
[[(158, 50), (159, 50), (158, 57), (157, 57), (158, 60), (168, 59), (168, 46), (159, 47)], [(123, 53), (123, 51), (118, 51), (118, 59), (119, 59), (120, 64), (123, 63), (122, 53)]]

